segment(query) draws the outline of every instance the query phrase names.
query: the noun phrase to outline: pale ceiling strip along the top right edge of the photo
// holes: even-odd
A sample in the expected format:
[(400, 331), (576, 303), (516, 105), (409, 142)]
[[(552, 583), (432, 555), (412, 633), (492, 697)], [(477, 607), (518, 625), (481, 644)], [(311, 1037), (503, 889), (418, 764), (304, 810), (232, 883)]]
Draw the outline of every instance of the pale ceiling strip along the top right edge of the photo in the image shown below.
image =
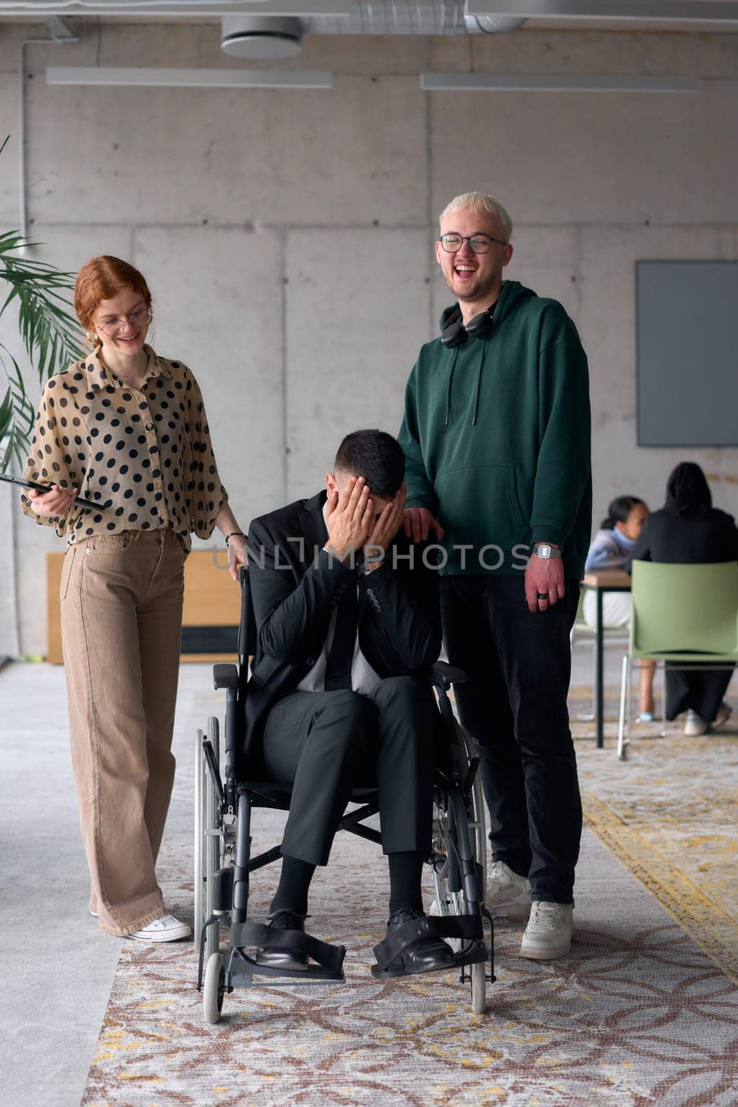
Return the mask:
[(738, 22), (734, 0), (466, 0), (468, 15)]

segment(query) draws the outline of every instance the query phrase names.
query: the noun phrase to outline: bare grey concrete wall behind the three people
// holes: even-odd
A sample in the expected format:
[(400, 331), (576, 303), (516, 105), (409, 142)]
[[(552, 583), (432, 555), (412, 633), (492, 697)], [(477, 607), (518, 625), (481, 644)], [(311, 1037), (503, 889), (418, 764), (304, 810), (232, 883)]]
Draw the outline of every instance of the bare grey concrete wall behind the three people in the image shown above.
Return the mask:
[[(0, 24), (0, 227), (18, 224), (18, 46)], [(38, 33), (38, 28), (33, 31)], [(592, 372), (595, 513), (662, 501), (683, 457), (738, 511), (735, 449), (638, 449), (634, 262), (736, 258), (738, 35), (519, 31), (335, 37), (295, 68), (332, 92), (49, 87), (48, 64), (230, 66), (215, 25), (93, 20), (79, 45), (28, 48), (29, 214), (40, 256), (73, 270), (118, 254), (146, 273), (156, 348), (195, 370), (243, 526), (312, 492), (345, 431), (395, 431), (406, 375), (448, 293), (435, 216), (496, 194), (516, 223), (508, 276), (559, 298)], [(424, 94), (425, 70), (699, 76), (694, 95)], [(13, 341), (10, 328), (3, 339)], [(29, 368), (33, 396), (38, 381)], [(10, 497), (0, 501), (9, 565)], [(15, 526), (21, 648), (44, 649), (43, 555)], [(2, 604), (6, 603), (4, 609)], [(2, 646), (10, 642), (0, 599)]]

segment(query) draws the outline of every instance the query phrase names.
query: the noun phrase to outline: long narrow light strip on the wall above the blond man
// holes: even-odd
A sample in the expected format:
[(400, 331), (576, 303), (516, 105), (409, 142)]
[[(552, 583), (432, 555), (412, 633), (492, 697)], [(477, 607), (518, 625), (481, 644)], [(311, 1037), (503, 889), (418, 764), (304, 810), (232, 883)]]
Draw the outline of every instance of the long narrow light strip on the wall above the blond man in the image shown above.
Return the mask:
[(679, 76), (420, 73), (424, 92), (696, 92), (697, 84)]

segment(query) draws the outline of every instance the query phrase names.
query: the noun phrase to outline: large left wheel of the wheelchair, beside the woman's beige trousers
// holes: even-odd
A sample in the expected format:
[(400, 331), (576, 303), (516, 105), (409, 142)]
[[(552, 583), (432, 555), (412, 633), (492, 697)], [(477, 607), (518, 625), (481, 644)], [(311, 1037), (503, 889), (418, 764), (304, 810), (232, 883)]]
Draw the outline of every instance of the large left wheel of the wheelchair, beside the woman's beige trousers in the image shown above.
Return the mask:
[[(208, 720), (208, 741), (220, 763), (220, 738), (218, 720)], [(195, 736), (195, 950), (200, 952), (202, 927), (212, 914), (212, 878), (220, 867), (220, 826), (218, 818), (218, 796), (208, 774), (202, 752), (205, 735), (197, 731)], [(208, 927), (206, 956), (216, 953), (220, 945), (220, 924)]]

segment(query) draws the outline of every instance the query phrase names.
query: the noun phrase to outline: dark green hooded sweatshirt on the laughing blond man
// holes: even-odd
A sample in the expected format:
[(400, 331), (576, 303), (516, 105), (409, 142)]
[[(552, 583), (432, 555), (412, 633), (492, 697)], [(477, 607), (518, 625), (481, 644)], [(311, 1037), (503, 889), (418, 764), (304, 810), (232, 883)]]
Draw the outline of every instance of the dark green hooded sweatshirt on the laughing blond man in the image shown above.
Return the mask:
[[(447, 308), (441, 331), (458, 304)], [(426, 342), (405, 392), (407, 506), (446, 530), (441, 575), (522, 572), (531, 544), (581, 577), (592, 527), (586, 355), (555, 300), (505, 281), (486, 334)], [(466, 550), (461, 547), (469, 547)]]

